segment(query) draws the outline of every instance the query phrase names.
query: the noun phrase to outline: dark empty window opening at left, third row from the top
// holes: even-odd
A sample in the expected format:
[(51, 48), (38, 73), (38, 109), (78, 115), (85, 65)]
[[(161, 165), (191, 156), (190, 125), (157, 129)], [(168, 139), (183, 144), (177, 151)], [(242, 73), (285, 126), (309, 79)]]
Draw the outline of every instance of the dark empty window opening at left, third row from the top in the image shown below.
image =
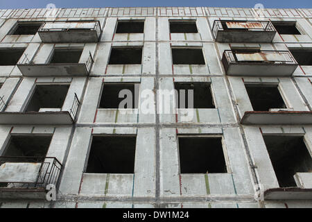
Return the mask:
[(36, 85), (26, 112), (38, 112), (41, 108), (62, 109), (69, 85)]

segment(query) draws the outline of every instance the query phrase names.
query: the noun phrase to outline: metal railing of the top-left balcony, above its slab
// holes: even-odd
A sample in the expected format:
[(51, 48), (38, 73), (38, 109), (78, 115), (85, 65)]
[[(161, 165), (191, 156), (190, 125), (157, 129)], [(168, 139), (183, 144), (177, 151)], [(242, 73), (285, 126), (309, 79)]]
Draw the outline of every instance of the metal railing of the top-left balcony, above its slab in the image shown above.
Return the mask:
[[(78, 22), (78, 23), (95, 23), (93, 28), (44, 28), (46, 24), (53, 24), (53, 23), (73, 23), (73, 22)], [(53, 21), (53, 22), (43, 22), (42, 25), (39, 28), (39, 31), (46, 32), (46, 31), (75, 31), (75, 30), (89, 30), (89, 31), (96, 31), (96, 33), (101, 33), (101, 24), (99, 21), (90, 21), (90, 20), (77, 20), (77, 21)]]

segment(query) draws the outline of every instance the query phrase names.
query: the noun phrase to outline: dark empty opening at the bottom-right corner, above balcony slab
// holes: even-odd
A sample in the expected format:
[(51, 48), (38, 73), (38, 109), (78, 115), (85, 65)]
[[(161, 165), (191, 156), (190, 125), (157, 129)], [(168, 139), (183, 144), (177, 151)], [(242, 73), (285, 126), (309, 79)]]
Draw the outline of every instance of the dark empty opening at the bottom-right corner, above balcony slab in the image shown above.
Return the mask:
[(295, 173), (312, 172), (312, 159), (303, 137), (263, 136), (279, 187), (297, 187)]

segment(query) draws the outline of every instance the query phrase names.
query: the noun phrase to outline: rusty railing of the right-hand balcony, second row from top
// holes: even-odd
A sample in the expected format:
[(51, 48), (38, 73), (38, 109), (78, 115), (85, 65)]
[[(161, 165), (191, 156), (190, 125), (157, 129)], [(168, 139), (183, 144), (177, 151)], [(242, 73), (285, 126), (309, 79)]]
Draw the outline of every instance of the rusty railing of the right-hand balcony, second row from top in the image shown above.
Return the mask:
[[(257, 56), (261, 57), (261, 60), (238, 60), (236, 54), (252, 54), (257, 53)], [(276, 64), (297, 64), (295, 58), (290, 51), (234, 51), (234, 50), (225, 50), (223, 56), (227, 58), (227, 62), (272, 62)], [(270, 58), (271, 57), (271, 58)], [(276, 57), (276, 60), (272, 60), (272, 58)], [(279, 58), (284, 58), (284, 60), (279, 60)]]

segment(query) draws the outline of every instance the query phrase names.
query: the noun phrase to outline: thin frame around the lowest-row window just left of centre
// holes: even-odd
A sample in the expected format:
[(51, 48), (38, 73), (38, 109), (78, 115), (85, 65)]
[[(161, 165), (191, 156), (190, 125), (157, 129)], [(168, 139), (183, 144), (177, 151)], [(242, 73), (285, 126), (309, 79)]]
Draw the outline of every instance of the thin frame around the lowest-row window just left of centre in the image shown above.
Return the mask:
[(134, 151), (134, 160), (133, 160), (133, 173), (95, 173), (95, 174), (116, 174), (116, 175), (135, 174), (135, 161), (136, 161), (136, 153), (137, 153), (137, 134), (92, 134), (90, 141), (89, 141), (87, 155), (85, 158), (85, 167), (83, 169), (83, 173), (89, 173), (87, 172), (87, 168), (88, 168), (90, 153), (92, 151), (92, 142), (93, 142), (94, 137), (134, 137), (135, 138), (135, 151)]

